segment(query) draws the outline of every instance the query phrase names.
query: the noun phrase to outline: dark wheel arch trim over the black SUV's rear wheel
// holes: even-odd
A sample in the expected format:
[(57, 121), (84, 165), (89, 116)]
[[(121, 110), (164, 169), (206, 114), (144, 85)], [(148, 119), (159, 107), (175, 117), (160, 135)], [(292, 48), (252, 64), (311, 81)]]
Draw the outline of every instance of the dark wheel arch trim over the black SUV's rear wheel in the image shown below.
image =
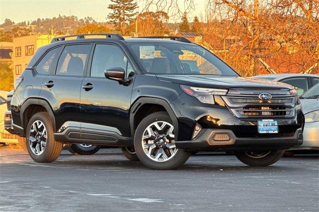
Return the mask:
[(52, 108), (49, 105), (49, 103), (43, 99), (30, 98), (23, 103), (20, 109), (21, 125), (24, 126), (24, 123), (23, 123), (24, 110), (30, 105), (39, 105), (39, 106), (43, 106), (46, 109), (52, 122), (53, 131), (55, 132), (55, 117), (54, 117)]

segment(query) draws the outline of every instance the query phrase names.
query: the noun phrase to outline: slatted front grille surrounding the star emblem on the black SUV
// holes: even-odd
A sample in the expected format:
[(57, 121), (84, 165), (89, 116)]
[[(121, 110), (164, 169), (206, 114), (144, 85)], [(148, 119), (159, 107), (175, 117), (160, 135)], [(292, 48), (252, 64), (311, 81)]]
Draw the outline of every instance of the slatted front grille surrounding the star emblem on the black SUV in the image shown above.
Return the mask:
[[(230, 110), (240, 118), (254, 117), (293, 117), (296, 97), (291, 96), (288, 89), (231, 89), (222, 97)], [(259, 94), (267, 92), (272, 99), (262, 101)]]

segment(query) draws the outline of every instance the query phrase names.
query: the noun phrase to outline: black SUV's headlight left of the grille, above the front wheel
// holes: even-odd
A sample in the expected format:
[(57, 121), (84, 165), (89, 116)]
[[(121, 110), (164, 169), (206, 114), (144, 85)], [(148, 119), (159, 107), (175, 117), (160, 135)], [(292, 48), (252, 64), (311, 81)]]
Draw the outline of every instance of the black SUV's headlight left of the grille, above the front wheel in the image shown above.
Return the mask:
[(181, 89), (188, 95), (196, 97), (202, 103), (215, 104), (214, 95), (226, 95), (225, 89), (210, 89), (210, 88), (197, 88), (191, 86), (180, 86)]

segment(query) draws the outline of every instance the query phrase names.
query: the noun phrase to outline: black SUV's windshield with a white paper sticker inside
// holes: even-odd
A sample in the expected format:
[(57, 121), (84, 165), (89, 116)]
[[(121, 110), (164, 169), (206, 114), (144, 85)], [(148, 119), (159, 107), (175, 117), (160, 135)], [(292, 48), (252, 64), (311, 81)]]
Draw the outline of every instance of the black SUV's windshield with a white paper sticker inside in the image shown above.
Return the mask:
[(239, 76), (206, 49), (184, 43), (131, 43), (135, 56), (150, 74)]

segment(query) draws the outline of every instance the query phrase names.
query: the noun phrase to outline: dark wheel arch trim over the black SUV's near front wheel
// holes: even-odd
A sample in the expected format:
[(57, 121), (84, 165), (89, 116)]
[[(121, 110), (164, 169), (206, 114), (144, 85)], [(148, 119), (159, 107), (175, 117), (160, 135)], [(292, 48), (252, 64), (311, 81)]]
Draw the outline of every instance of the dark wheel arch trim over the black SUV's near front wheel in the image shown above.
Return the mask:
[(178, 121), (176, 118), (176, 115), (174, 113), (174, 111), (172, 110), (172, 108), (169, 106), (169, 104), (160, 98), (153, 98), (153, 97), (141, 97), (139, 98), (131, 107), (131, 111), (130, 111), (130, 126), (131, 126), (131, 137), (134, 137), (134, 116), (136, 114), (136, 112), (139, 110), (139, 108), (141, 106), (143, 106), (144, 104), (153, 104), (153, 105), (160, 105), (163, 106), (165, 108), (165, 110), (167, 111), (170, 119), (173, 122), (173, 126), (174, 126), (174, 132), (175, 132), (175, 140), (178, 139)]

